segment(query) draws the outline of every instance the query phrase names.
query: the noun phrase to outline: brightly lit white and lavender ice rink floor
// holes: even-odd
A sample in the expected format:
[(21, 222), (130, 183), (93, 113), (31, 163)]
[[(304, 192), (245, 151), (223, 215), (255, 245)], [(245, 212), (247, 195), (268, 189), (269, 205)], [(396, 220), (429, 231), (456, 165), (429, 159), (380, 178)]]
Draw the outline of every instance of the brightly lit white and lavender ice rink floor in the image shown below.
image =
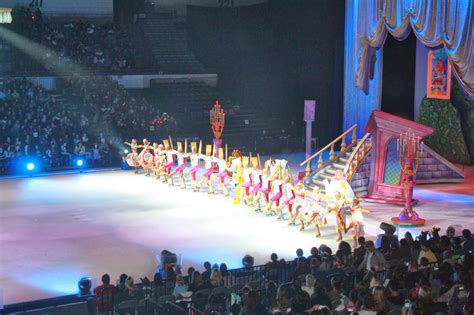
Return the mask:
[[(178, 183), (176, 183), (178, 184)], [(217, 191), (219, 193), (219, 191)], [(421, 186), (417, 211), (433, 225), (474, 230), (474, 182)], [(333, 248), (334, 217), (316, 238), (286, 221), (266, 217), (222, 195), (169, 187), (131, 171), (104, 171), (0, 180), (0, 288), (3, 303), (77, 292), (83, 276), (121, 273), (153, 277), (155, 256), (163, 249), (180, 255), (185, 267), (201, 269), (206, 260), (241, 266), (245, 254), (256, 264), (272, 252), (285, 259), (302, 248)], [(368, 238), (381, 233), (380, 222), (398, 215), (399, 206), (366, 204)], [(403, 231), (400, 231), (404, 233)], [(460, 233), (458, 229), (457, 233)], [(345, 240), (350, 241), (350, 234)]]

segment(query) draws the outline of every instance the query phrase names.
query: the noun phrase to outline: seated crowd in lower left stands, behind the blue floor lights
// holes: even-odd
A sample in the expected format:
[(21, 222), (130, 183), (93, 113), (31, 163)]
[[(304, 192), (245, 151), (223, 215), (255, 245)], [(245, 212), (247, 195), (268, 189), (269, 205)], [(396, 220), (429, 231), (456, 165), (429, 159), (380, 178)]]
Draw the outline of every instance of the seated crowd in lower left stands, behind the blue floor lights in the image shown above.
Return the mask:
[[(71, 77), (49, 92), (26, 79), (0, 82), (0, 174), (34, 158), (45, 168), (119, 165), (123, 142), (162, 137), (176, 121), (106, 77)], [(66, 99), (63, 99), (63, 98)]]

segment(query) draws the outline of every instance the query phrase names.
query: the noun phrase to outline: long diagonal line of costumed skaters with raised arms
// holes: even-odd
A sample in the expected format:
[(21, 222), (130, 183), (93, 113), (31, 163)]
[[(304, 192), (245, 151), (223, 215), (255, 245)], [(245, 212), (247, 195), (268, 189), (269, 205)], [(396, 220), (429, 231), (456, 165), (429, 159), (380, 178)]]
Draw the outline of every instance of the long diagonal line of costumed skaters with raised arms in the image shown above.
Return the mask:
[[(301, 231), (314, 226), (316, 237), (321, 236), (320, 226), (328, 224), (330, 215), (335, 215), (337, 241), (342, 240), (343, 233), (352, 230), (354, 245), (358, 246), (357, 238), (364, 235), (363, 213), (368, 210), (361, 207), (342, 171), (336, 171), (330, 181), (324, 181), (323, 194), (318, 186), (311, 191), (302, 180), (294, 181), (287, 160), (270, 158), (262, 167), (258, 154), (242, 156), (234, 150), (228, 157), (227, 148), (224, 152), (213, 145), (206, 145), (202, 154), (202, 142), (191, 142), (188, 152), (187, 140), (184, 145), (177, 142), (175, 149), (171, 138), (153, 144), (143, 139), (140, 145), (132, 139), (125, 144), (131, 147), (131, 153), (123, 159), (135, 169), (135, 174), (143, 168), (145, 176), (154, 176), (170, 186), (178, 178), (181, 189), (187, 189), (185, 178), (191, 176), (193, 191), (200, 191), (205, 185), (209, 194), (215, 193), (217, 181), (226, 197), (230, 194), (228, 186), (234, 187), (234, 204), (242, 201), (257, 212), (275, 215), (278, 220), (287, 219), (289, 225), (299, 222)], [(347, 214), (351, 215), (349, 223)]]

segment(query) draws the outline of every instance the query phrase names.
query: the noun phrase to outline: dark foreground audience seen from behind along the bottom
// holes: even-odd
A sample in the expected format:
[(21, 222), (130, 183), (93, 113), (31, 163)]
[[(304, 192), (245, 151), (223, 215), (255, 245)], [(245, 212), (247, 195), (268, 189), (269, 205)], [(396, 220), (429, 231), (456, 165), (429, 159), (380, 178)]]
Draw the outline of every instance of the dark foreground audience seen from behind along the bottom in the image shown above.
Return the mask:
[[(204, 314), (474, 314), (470, 230), (455, 236), (449, 227), (440, 236), (434, 228), (416, 239), (407, 232), (400, 240), (384, 235), (377, 248), (363, 237), (359, 243), (351, 248), (342, 241), (335, 253), (326, 245), (313, 247), (309, 256), (298, 249), (292, 261), (273, 253), (265, 266), (255, 268), (246, 256), (244, 268), (238, 270), (206, 262), (203, 272), (190, 267), (182, 274), (179, 266), (171, 265), (157, 273), (153, 283), (142, 279), (138, 286), (122, 274), (113, 287), (104, 275), (103, 285), (95, 289), (95, 305), (99, 310), (104, 306), (104, 287), (114, 293), (118, 305), (146, 301), (145, 289), (153, 286), (152, 299), (159, 302), (171, 293), (174, 303), (183, 308), (196, 301), (203, 289), (212, 290), (202, 305)], [(243, 275), (247, 281), (238, 290), (216, 289)], [(171, 284), (168, 292), (166, 284)]]

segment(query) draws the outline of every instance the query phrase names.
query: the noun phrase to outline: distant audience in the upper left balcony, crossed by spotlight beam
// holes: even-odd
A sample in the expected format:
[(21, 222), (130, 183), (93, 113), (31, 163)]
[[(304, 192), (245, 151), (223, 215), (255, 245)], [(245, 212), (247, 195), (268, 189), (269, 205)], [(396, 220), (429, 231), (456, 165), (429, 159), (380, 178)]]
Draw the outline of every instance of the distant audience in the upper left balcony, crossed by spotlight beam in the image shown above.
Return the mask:
[[(58, 71), (70, 63), (101, 72), (143, 71), (155, 66), (138, 25), (59, 22), (44, 19), (39, 8), (35, 12), (18, 9), (14, 15), (11, 27), (15, 32), (44, 48), (35, 51), (33, 58), (46, 70)], [(18, 67), (32, 70), (32, 63), (27, 60), (26, 55), (19, 59), (23, 62), (17, 64), (15, 71)]]

